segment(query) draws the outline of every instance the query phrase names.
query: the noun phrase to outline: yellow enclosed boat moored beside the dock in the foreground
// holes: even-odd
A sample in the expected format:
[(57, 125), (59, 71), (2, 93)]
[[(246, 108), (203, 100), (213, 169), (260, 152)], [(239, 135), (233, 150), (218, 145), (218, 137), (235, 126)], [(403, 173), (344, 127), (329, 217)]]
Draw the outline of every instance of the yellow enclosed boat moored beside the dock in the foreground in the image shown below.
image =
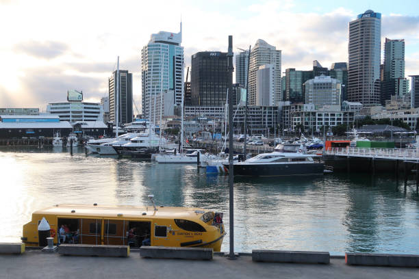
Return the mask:
[(225, 236), (223, 213), (205, 209), (56, 204), (34, 212), (23, 226), (21, 239), (26, 245), (39, 246), (42, 217), (54, 243), (201, 247), (219, 252)]

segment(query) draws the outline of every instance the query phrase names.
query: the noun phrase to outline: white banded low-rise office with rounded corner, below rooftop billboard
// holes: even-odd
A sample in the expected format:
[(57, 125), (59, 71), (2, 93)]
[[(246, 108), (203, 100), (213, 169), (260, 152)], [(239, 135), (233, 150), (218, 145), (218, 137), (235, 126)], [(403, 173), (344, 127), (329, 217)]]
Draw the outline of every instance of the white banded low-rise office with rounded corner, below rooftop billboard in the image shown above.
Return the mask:
[(49, 103), (47, 112), (58, 116), (61, 121), (97, 121), (103, 122), (103, 107), (100, 103), (60, 102)]

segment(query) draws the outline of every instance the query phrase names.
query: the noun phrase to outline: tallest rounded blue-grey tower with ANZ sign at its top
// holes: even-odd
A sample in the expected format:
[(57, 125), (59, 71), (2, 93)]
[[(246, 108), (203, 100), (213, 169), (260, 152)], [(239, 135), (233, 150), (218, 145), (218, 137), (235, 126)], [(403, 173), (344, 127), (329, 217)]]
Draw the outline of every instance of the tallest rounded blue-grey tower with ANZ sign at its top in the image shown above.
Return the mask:
[(380, 103), (381, 14), (367, 10), (349, 23), (348, 101)]

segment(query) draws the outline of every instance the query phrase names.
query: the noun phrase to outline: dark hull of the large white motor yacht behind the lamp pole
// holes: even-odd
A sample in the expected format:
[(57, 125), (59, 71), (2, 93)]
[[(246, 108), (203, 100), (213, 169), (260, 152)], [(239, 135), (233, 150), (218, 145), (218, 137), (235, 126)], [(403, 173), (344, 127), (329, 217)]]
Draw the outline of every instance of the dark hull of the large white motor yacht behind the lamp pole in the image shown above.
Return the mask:
[[(225, 165), (228, 168), (228, 165)], [(323, 174), (323, 163), (255, 163), (234, 164), (236, 176), (309, 176)]]

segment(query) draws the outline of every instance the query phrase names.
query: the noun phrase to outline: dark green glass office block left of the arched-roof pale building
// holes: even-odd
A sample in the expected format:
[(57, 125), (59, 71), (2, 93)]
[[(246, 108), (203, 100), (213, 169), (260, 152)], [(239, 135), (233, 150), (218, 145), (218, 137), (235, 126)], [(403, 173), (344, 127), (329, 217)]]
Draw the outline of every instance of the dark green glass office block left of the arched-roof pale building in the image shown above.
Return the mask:
[(289, 68), (285, 70), (285, 101), (290, 103), (304, 103), (304, 89), (305, 81), (314, 78), (312, 70), (295, 70)]

